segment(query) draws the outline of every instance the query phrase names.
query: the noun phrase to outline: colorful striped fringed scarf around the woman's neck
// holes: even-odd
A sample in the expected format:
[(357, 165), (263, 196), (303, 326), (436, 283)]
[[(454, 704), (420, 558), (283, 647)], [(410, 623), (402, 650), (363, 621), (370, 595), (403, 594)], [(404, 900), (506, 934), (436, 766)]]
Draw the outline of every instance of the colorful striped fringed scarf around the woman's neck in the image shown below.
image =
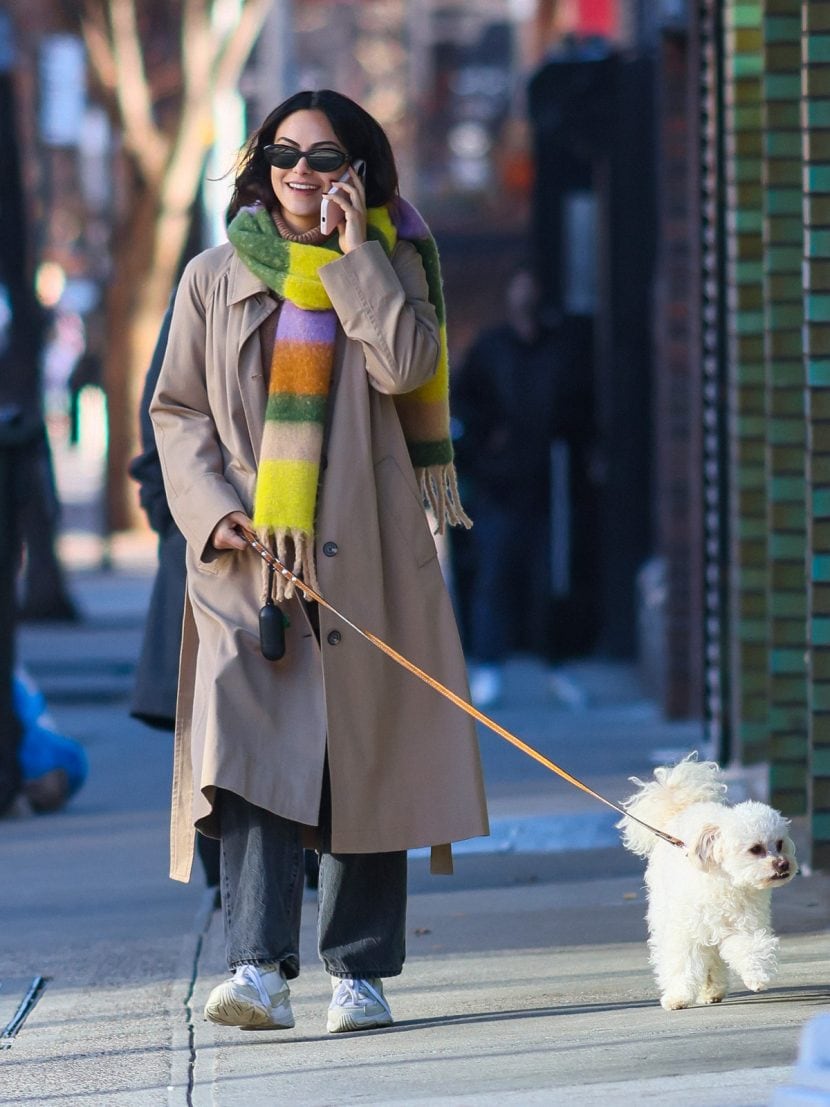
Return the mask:
[[(449, 437), (449, 365), (435, 240), (416, 209), (400, 198), (369, 209), (367, 237), (376, 239), (387, 255), (398, 237), (404, 238), (424, 263), (429, 301), (440, 327), (438, 368), (426, 384), (395, 396), (395, 406), (437, 531), (443, 532), (447, 523), (469, 527), (458, 498)], [(338, 324), (319, 270), (342, 254), (336, 235), (320, 246), (282, 238), (271, 215), (259, 205), (238, 213), (228, 238), (247, 268), (284, 300), (271, 360), (253, 524), (260, 535), (273, 540), (280, 560), (317, 587), (314, 516)], [(279, 592), (283, 592), (281, 587)], [(284, 594), (290, 596), (291, 589)]]

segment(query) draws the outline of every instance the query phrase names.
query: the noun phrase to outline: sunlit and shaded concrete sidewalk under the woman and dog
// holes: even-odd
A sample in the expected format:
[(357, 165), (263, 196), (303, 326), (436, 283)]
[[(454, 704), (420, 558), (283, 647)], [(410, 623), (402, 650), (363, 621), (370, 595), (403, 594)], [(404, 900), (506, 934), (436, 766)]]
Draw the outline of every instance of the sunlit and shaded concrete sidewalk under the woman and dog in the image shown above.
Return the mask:
[[(387, 987), (395, 1025), (325, 1033), (312, 892), (294, 1030), (204, 1022), (225, 975), (221, 918), (198, 879), (166, 878), (170, 739), (126, 714), (153, 568), (152, 548), (133, 552), (111, 573), (73, 573), (84, 623), (19, 637), (91, 774), (68, 810), (0, 824), (0, 1027), (32, 979), (49, 977), (0, 1052), (0, 1104), (769, 1103), (801, 1026), (830, 1000), (828, 878), (777, 893), (781, 971), (768, 993), (667, 1014), (646, 960), (642, 865), (619, 847), (614, 814), (490, 732), (492, 838), (460, 848), (453, 878), (411, 859), (407, 964)], [(660, 720), (627, 669), (563, 675), (581, 710), (517, 660), (492, 715), (603, 795), (625, 796), (655, 752), (699, 745), (697, 726)]]

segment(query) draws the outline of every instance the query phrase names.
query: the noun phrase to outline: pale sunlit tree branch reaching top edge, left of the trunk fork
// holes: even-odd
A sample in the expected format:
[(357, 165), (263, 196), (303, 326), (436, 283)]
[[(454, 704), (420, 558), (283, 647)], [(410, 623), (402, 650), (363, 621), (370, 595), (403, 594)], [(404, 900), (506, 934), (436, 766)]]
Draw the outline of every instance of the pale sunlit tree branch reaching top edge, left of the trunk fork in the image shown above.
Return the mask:
[(168, 143), (153, 118), (149, 82), (144, 70), (135, 0), (110, 0), (112, 50), (117, 74), (116, 94), (124, 122), (124, 144), (142, 173), (158, 179)]

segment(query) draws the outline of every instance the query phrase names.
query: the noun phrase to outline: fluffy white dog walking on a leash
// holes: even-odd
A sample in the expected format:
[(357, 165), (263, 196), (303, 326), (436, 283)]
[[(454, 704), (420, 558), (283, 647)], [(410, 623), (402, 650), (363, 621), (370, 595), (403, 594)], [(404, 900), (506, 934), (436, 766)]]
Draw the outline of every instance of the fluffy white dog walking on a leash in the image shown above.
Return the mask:
[(729, 969), (760, 992), (777, 968), (770, 894), (797, 871), (789, 821), (755, 800), (727, 806), (719, 772), (692, 754), (649, 784), (631, 778), (639, 790), (622, 806), (685, 851), (629, 818), (618, 823), (625, 848), (649, 859), (649, 949), (666, 1011), (719, 1003)]

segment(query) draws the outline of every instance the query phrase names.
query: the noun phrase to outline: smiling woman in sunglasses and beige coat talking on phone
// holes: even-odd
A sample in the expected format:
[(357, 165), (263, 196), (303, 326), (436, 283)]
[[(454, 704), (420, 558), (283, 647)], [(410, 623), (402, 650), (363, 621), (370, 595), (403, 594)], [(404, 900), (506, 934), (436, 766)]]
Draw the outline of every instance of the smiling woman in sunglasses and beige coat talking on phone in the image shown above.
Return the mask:
[[(342, 221), (323, 239), (335, 182)], [(230, 214), (230, 242), (185, 270), (152, 405), (187, 539), (172, 875), (188, 879), (194, 825), (219, 838), (234, 975), (207, 1017), (292, 1026), (313, 836), (328, 1030), (385, 1026), (382, 980), (405, 953), (406, 849), (432, 846), (434, 871), (452, 871), (448, 844), (488, 832), (475, 731), (269, 580), (237, 528), (256, 528), (350, 619), (467, 695), (423, 509), (426, 493), (439, 528), (468, 521), (448, 444), (437, 257), (397, 196), (382, 128), (330, 91), (268, 116)], [(269, 593), (287, 622), (279, 661), (257, 632)]]

